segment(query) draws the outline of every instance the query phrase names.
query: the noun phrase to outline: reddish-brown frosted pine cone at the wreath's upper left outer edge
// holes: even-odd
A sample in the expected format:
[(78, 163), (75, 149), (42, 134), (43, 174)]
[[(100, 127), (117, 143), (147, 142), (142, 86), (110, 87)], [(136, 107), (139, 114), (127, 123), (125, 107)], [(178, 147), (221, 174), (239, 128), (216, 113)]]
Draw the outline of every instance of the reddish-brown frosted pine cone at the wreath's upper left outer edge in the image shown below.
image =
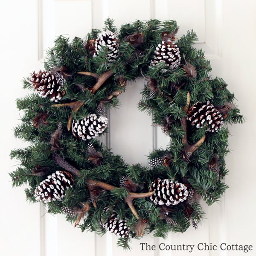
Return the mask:
[(60, 100), (65, 91), (60, 91), (65, 83), (64, 77), (58, 73), (51, 73), (49, 71), (40, 70), (38, 73), (33, 72), (31, 74), (30, 82), (32, 86), (37, 90), (39, 96), (45, 98), (50, 97), (50, 101), (57, 102)]

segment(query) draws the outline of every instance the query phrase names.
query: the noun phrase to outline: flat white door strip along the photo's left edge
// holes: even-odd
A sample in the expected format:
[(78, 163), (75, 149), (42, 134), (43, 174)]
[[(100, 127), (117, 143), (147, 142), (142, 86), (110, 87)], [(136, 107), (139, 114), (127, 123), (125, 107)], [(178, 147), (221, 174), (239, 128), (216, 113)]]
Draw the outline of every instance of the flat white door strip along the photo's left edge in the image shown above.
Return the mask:
[[(26, 19), (20, 10), (26, 6)], [(1, 255), (40, 255), (40, 204), (28, 204), (25, 187), (12, 188), (8, 173), (19, 162), (10, 160), (13, 148), (25, 146), (13, 136), (13, 127), (20, 123), (16, 99), (26, 95), (23, 76), (37, 68), (37, 3), (36, 1), (1, 1), (0, 3), (0, 253)]]

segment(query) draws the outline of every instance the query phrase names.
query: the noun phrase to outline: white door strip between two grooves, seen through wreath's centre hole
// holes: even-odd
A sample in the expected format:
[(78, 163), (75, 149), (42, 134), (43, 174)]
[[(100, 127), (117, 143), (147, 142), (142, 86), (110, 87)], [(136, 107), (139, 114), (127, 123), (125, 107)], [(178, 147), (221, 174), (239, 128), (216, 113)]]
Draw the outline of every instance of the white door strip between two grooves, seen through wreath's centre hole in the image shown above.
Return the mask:
[(110, 110), (110, 148), (129, 164), (145, 165), (153, 148), (152, 118), (138, 109), (144, 83), (141, 78), (128, 82), (125, 93), (119, 96), (120, 107)]

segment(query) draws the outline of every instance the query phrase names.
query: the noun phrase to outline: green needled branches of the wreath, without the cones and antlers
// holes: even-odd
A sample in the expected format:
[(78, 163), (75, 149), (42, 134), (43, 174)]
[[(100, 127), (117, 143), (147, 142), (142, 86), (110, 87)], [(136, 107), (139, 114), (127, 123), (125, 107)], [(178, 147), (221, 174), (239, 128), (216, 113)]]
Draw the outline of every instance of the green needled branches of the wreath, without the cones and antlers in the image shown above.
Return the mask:
[[(221, 198), (227, 189), (224, 183), (224, 176), (228, 172), (224, 160), (229, 152), (227, 124), (241, 123), (243, 117), (239, 114), (239, 109), (233, 105), (224, 118), (225, 124), (218, 132), (207, 132), (207, 127), (197, 129), (188, 122), (187, 127), (184, 128), (181, 120), (186, 119), (184, 107), (188, 95), (190, 95), (190, 105), (210, 101), (214, 106), (233, 104), (234, 95), (227, 89), (223, 79), (212, 78), (209, 75), (211, 66), (204, 52), (193, 48), (197, 36), (192, 30), (176, 41), (181, 55), (179, 67), (163, 72), (163, 65), (150, 65), (156, 46), (162, 41), (162, 33), (165, 31), (171, 33), (176, 28), (177, 24), (173, 20), (165, 22), (137, 20), (121, 26), (118, 34), (118, 58), (111, 64), (106, 61), (107, 48), (102, 47), (102, 51), (95, 57), (87, 50), (87, 41), (97, 38), (100, 32), (98, 29), (93, 29), (85, 39), (76, 37), (70, 41), (60, 36), (55, 40), (55, 46), (47, 51), (44, 67), (49, 71), (56, 67), (65, 69), (65, 73), (68, 73), (68, 79), (64, 84), (65, 95), (55, 104), (48, 97), (42, 98), (36, 94), (30, 78), (26, 78), (23, 87), (31, 89), (32, 93), (23, 99), (17, 99), (17, 108), (24, 114), (21, 118), (22, 123), (17, 125), (14, 133), (17, 138), (29, 142), (29, 145), (11, 152), (11, 157), (18, 159), (20, 165), (10, 176), (13, 186), (27, 185), (26, 197), (29, 201), (36, 202), (34, 191), (47, 175), (63, 169), (63, 165), (53, 157), (58, 155), (79, 174), (74, 175), (75, 183), (66, 191), (62, 201), (52, 201), (47, 204), (48, 211), (57, 214), (62, 212), (62, 207), (82, 209), (87, 202), (89, 207), (83, 212), (85, 217), (77, 223), (77, 226), (82, 231), (90, 230), (102, 234), (105, 230), (99, 224), (100, 220), (108, 217), (108, 212), (104, 212), (103, 209), (105, 207), (115, 209), (120, 218), (126, 219), (131, 229), (130, 235), (120, 238), (118, 244), (129, 248), (128, 241), (138, 235), (135, 228), (138, 221), (146, 220), (145, 234), (151, 232), (154, 236), (166, 237), (170, 230), (184, 232), (192, 221), (196, 224), (201, 221), (204, 211), (198, 201), (198, 195), (209, 205)], [(104, 30), (107, 29), (117, 33), (113, 20), (106, 20)], [(143, 40), (136, 46), (129, 41), (129, 36), (134, 33), (143, 35)], [(184, 68), (188, 63), (195, 68), (196, 74), (188, 75)], [(98, 90), (92, 92), (91, 89), (96, 83), (95, 77), (102, 76), (108, 70), (111, 70), (111, 76)], [(83, 76), (78, 73), (84, 71), (94, 73), (96, 76)], [(106, 108), (120, 105), (117, 96), (125, 90), (125, 86), (120, 86), (120, 80), (134, 80), (139, 76), (147, 80), (142, 91), (142, 99), (138, 104), (139, 109), (151, 114), (153, 123), (162, 126), (166, 136), (170, 137), (167, 148), (149, 153), (148, 159), (165, 157), (168, 154), (169, 162), (153, 168), (141, 166), (139, 163), (128, 165), (122, 156), (113, 154), (104, 144), (92, 139), (90, 143), (102, 155), (102, 162), (95, 165), (88, 160), (88, 141), (79, 140), (67, 129), (70, 115), (78, 120), (96, 113), (96, 108), (101, 102), (105, 103)], [(157, 84), (154, 88), (154, 96), (149, 88), (152, 81), (156, 81)], [(70, 102), (82, 102), (82, 106), (74, 111), (68, 105)], [(35, 125), (34, 120), (38, 114), (46, 116), (44, 125)], [(168, 125), (165, 122), (167, 119)], [(58, 148), (53, 149), (49, 142), (54, 136), (58, 123), (62, 125), (61, 135), (57, 137)], [(204, 142), (193, 152), (189, 161), (184, 161), (185, 146), (194, 145), (205, 134)], [(187, 137), (187, 141), (184, 137)], [(211, 169), (210, 163), (214, 159), (218, 167), (217, 171)], [(36, 172), (38, 169), (41, 171)], [(66, 168), (66, 171), (69, 171), (69, 168)], [(155, 206), (149, 197), (136, 198), (133, 200), (133, 205), (140, 217), (138, 220), (125, 201), (129, 189), (120, 188), (122, 176), (128, 177), (137, 184), (135, 190), (137, 193), (148, 192), (151, 182), (159, 177), (179, 180), (193, 189), (194, 197), (190, 201), (185, 200), (171, 207), (168, 218), (173, 220), (173, 224), (167, 223), (162, 215), (163, 209)], [(102, 181), (115, 188), (99, 189), (92, 203), (88, 180)], [(78, 215), (67, 216), (67, 220), (72, 223), (76, 222), (77, 218)]]

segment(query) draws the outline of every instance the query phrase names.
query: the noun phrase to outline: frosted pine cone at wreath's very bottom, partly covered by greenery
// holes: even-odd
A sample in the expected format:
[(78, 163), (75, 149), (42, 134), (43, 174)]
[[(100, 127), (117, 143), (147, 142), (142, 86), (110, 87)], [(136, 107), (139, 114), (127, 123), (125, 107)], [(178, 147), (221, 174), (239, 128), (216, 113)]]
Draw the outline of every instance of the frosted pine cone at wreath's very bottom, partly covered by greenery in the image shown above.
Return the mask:
[[(105, 207), (103, 211), (107, 212), (108, 210), (109, 208)], [(126, 222), (125, 219), (120, 220), (116, 211), (113, 210), (105, 222), (101, 219), (100, 224), (103, 228), (111, 231), (116, 236), (126, 237), (130, 232), (130, 228), (126, 225)]]

